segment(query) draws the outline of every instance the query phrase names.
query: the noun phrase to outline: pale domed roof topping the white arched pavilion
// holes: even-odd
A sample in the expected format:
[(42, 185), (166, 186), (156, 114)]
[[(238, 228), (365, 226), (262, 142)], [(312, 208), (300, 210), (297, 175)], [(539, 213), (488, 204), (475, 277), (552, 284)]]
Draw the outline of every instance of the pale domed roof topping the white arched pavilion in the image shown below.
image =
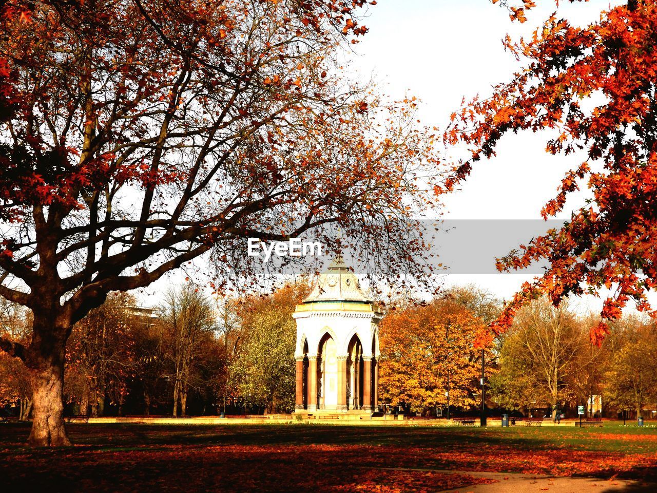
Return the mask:
[(304, 303), (322, 301), (353, 301), (372, 303), (361, 291), (358, 278), (349, 270), (342, 258), (338, 257), (319, 275), (313, 291)]

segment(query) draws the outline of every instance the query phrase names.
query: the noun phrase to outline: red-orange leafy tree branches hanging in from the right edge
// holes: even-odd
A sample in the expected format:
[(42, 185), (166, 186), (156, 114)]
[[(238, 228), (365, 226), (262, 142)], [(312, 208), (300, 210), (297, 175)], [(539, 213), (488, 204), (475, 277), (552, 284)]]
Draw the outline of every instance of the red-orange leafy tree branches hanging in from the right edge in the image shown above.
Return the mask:
[[(521, 22), (533, 5), (502, 3)], [(572, 212), (563, 227), (499, 261), (499, 269), (509, 270), (544, 259), (549, 268), (507, 305), (494, 326), (497, 332), (541, 293), (558, 303), (569, 294), (612, 289), (602, 321), (591, 329), (597, 343), (608, 332), (606, 322), (620, 317), (628, 300), (655, 315), (645, 296), (657, 285), (655, 39), (654, 1), (629, 0), (583, 28), (553, 15), (531, 39), (513, 43), (507, 37), (505, 47), (523, 60), (510, 82), (452, 115), (445, 141), (466, 143), (472, 156), (455, 166), (447, 189), (470, 174), (472, 163), (493, 156), (498, 141), (510, 132), (546, 131), (549, 153), (582, 150), (586, 155), (564, 176), (543, 218), (560, 212), (568, 194), (585, 179), (591, 200)]]

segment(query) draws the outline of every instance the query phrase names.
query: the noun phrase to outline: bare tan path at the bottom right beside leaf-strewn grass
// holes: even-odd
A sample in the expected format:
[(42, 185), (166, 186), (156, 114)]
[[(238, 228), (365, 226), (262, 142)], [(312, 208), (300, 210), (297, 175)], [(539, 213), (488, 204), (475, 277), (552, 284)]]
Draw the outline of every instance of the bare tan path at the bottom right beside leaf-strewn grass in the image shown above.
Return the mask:
[(440, 471), (469, 474), (495, 479), (491, 484), (473, 484), (440, 493), (656, 493), (657, 484), (621, 479), (541, 476), (522, 473), (474, 473), (471, 471)]

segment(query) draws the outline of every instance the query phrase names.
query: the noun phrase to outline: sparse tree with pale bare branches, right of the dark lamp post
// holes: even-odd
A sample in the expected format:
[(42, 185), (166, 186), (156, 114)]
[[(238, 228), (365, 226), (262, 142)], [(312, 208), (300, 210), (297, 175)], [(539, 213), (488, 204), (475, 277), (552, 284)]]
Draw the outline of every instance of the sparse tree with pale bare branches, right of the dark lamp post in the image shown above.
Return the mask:
[(543, 298), (520, 311), (503, 336), (493, 393), (512, 409), (542, 402), (556, 409), (572, 397), (570, 379), (595, 362), (587, 326), (564, 303)]

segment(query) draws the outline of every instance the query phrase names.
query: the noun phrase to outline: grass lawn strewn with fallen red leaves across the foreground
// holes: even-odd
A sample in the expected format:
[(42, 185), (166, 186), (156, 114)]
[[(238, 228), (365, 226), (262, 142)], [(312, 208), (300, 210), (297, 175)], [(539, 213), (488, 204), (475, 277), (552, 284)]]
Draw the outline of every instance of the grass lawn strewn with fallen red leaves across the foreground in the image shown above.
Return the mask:
[[(0, 425), (7, 491), (436, 491), (496, 471), (657, 481), (657, 428), (68, 425), (73, 448), (30, 450)], [(45, 489), (44, 489), (45, 488)], [(4, 489), (4, 488), (3, 488)]]

